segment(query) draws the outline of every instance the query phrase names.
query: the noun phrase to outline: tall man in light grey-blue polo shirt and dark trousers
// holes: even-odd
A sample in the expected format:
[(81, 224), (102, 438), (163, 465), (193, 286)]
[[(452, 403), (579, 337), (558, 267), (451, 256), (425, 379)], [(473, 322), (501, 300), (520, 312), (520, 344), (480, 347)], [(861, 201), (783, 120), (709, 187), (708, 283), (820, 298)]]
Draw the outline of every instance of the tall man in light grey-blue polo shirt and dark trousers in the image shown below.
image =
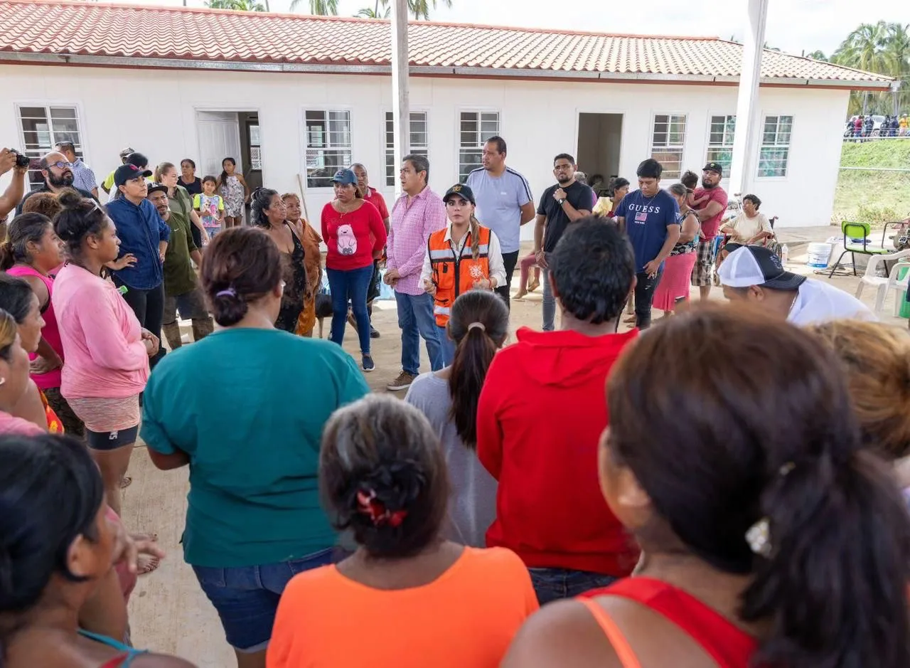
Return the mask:
[(490, 137), (483, 145), (483, 167), (468, 175), (467, 185), (477, 199), (477, 219), (500, 240), (506, 283), (496, 291), (509, 306), (511, 276), (518, 263), (521, 226), (534, 219), (534, 202), (528, 179), (506, 167), (506, 142)]

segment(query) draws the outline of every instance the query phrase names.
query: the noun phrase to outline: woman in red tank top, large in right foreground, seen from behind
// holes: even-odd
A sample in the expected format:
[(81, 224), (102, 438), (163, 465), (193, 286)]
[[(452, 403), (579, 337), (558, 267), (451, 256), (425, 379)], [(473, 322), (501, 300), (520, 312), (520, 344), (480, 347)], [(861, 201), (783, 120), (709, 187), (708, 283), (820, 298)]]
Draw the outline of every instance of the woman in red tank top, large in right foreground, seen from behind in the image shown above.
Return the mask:
[(910, 517), (842, 376), (810, 334), (730, 308), (626, 349), (600, 474), (642, 561), (545, 606), (503, 668), (910, 666)]

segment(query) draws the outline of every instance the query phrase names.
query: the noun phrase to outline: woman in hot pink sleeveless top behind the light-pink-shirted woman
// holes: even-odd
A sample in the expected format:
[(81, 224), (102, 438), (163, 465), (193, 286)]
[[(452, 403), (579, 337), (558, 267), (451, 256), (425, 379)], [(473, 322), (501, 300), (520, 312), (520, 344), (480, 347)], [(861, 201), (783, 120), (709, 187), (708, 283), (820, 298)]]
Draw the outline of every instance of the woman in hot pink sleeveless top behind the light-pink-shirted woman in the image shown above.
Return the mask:
[[(37, 196), (30, 197), (27, 204), (30, 205), (33, 199)], [(53, 202), (57, 208), (60, 207), (56, 195)], [(85, 435), (85, 425), (60, 393), (63, 343), (51, 302), (54, 291), (52, 272), (63, 262), (62, 245), (49, 218), (39, 213), (20, 214), (9, 224), (6, 243), (0, 246), (0, 269), (10, 276), (24, 279), (35, 293), (35, 310), (45, 324), (37, 330), (35, 346), (26, 345), (26, 349), (34, 350), (29, 353), (32, 380), (44, 392), (47, 403), (61, 420), (66, 433), (81, 438)], [(0, 303), (0, 308), (5, 306)], [(18, 315), (15, 318), (21, 326), (23, 319)]]

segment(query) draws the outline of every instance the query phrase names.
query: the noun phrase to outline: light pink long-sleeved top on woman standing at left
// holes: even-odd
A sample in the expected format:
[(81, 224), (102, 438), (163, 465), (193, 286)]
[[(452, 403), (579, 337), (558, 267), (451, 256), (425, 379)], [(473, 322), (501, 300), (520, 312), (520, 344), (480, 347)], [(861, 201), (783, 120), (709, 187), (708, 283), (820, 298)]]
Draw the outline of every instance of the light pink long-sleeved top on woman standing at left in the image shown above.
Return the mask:
[(69, 263), (51, 300), (66, 353), (60, 385), (66, 399), (126, 399), (146, 389), (142, 328), (114, 283)]

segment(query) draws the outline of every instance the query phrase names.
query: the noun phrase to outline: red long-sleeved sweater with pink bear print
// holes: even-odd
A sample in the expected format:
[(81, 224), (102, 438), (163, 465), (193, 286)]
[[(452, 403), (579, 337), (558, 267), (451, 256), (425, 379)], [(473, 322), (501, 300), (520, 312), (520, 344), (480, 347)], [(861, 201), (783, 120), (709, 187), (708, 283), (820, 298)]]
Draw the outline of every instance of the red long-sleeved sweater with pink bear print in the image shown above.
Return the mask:
[(322, 208), (322, 239), (329, 248), (327, 269), (362, 269), (382, 254), (386, 226), (379, 210), (366, 200), (350, 213), (339, 213), (329, 202)]

